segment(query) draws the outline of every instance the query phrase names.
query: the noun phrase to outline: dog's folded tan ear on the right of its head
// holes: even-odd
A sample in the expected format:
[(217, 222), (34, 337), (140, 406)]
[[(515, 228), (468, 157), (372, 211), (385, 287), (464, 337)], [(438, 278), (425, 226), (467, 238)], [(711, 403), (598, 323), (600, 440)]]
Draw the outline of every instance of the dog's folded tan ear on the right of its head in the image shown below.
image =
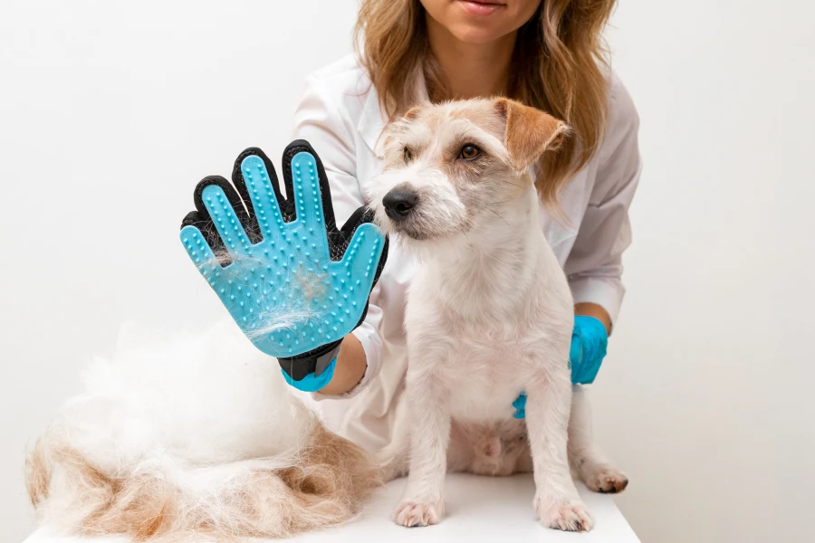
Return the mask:
[(521, 102), (499, 98), (495, 109), (506, 121), (503, 143), (513, 161), (513, 167), (521, 171), (545, 151), (561, 147), (569, 127), (548, 113), (524, 106)]

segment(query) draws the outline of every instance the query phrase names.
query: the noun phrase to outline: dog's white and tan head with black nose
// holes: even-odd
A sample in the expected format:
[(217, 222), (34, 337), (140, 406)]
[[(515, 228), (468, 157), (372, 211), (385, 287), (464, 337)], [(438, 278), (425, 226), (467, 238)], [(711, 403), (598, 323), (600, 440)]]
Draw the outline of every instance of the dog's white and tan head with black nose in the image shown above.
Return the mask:
[(385, 129), (377, 222), (410, 245), (478, 232), (533, 190), (528, 167), (566, 131), (504, 98), (417, 106)]

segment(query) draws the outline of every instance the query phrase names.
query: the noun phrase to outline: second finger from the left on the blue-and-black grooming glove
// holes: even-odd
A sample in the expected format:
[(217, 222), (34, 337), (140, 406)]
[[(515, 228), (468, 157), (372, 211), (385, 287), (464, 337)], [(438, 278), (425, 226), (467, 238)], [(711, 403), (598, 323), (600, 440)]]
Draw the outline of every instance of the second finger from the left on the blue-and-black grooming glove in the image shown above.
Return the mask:
[(196, 207), (215, 227), (230, 259), (235, 255), (250, 255), (252, 242), (245, 229), (249, 217), (240, 197), (224, 177), (209, 176), (198, 183)]

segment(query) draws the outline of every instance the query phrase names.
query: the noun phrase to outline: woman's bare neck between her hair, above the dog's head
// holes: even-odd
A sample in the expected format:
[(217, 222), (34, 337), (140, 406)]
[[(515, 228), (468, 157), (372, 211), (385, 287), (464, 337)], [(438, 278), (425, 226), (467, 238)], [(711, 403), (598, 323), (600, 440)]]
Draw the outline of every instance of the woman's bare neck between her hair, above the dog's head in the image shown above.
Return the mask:
[(464, 43), (429, 14), (427, 37), (445, 78), (446, 100), (490, 97), (509, 92), (510, 63), (517, 32), (490, 43)]

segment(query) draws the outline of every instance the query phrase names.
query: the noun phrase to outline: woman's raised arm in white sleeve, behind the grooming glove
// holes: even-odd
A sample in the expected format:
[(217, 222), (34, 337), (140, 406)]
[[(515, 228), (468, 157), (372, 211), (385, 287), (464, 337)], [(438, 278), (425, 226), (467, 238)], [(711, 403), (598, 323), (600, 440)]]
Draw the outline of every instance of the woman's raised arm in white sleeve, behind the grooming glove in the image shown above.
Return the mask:
[[(356, 174), (355, 128), (350, 115), (340, 114), (332, 94), (336, 92), (332, 93), (327, 83), (313, 77), (306, 81), (302, 100), (294, 112), (293, 137), (307, 140), (320, 154), (331, 186), (337, 224), (343, 224), (364, 202)], [(322, 394), (355, 394), (379, 373), (382, 310), (376, 305), (378, 294), (376, 286), (370, 294), (365, 320), (342, 340), (334, 374), (321, 389)]]

